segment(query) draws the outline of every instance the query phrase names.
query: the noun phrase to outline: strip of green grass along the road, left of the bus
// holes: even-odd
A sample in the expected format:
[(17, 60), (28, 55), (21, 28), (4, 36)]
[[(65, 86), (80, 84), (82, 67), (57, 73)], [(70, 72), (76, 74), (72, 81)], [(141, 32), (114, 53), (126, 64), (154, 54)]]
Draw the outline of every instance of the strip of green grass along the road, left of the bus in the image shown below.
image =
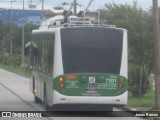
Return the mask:
[(14, 72), (19, 75), (26, 76), (26, 77), (29, 77), (30, 75), (29, 69), (27, 68), (13, 67), (13, 66), (4, 65), (4, 64), (0, 64), (0, 68), (3, 68), (5, 70), (8, 70), (8, 71), (11, 71), (11, 72)]

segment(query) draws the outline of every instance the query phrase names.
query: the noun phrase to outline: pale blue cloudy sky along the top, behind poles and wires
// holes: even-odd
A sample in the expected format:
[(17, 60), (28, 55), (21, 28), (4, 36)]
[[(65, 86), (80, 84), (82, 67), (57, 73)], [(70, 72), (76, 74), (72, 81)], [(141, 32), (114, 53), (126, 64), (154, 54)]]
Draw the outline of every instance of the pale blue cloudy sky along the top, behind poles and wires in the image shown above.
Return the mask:
[[(11, 0), (0, 0), (0, 7), (1, 8), (11, 8)], [(16, 9), (22, 9), (22, 0), (12, 0), (12, 1), (17, 1), (12, 3), (12, 8)], [(29, 0), (24, 0), (25, 1), (25, 9), (28, 9), (28, 1)], [(32, 4), (37, 5), (37, 9), (41, 9), (41, 2), (40, 0), (30, 0), (33, 1)], [(45, 9), (52, 9), (53, 7), (60, 6), (63, 2), (68, 2), (71, 3), (73, 0), (44, 0), (44, 8)], [(82, 5), (81, 8), (78, 9), (84, 9), (84, 7), (87, 6), (90, 0), (77, 0), (79, 4)], [(133, 1), (135, 0), (94, 0), (92, 5), (90, 6), (90, 10), (96, 10), (98, 8), (101, 8), (104, 6), (105, 3), (116, 3), (116, 4), (129, 4), (132, 5)], [(138, 2), (138, 6), (142, 7), (143, 9), (148, 9), (152, 6), (152, 0), (136, 0)], [(160, 6), (160, 0), (159, 1), (159, 6)], [(67, 9), (67, 6), (65, 7)]]

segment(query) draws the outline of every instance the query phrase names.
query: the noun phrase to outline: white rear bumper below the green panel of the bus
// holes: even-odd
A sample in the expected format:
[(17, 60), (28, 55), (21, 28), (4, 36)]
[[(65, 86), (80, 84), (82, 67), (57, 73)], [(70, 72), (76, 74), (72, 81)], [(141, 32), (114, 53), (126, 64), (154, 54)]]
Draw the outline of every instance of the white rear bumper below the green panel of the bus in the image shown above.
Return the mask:
[(127, 105), (128, 91), (119, 96), (66, 96), (53, 90), (53, 105), (56, 104), (103, 104)]

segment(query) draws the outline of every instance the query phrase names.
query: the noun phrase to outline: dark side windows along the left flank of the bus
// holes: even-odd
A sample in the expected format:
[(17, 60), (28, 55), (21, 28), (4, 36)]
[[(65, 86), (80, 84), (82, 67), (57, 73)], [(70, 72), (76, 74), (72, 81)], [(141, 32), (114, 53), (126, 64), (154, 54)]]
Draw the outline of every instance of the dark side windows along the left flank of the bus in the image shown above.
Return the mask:
[(32, 49), (34, 69), (50, 77), (53, 75), (54, 35), (35, 35), (33, 42), (37, 48)]

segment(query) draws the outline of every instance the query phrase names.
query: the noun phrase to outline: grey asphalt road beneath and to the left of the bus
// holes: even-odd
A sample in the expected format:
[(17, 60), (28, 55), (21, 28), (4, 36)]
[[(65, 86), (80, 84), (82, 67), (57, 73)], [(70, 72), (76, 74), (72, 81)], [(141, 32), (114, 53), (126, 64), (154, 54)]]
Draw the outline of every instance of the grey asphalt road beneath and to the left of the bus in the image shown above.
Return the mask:
[[(29, 78), (0, 69), (0, 111), (45, 111), (42, 104), (34, 103), (30, 92)], [(121, 111), (114, 108), (114, 111)], [(53, 117), (29, 118), (29, 120), (143, 120), (125, 117), (128, 112), (49, 112)], [(28, 120), (28, 118), (0, 118)]]

